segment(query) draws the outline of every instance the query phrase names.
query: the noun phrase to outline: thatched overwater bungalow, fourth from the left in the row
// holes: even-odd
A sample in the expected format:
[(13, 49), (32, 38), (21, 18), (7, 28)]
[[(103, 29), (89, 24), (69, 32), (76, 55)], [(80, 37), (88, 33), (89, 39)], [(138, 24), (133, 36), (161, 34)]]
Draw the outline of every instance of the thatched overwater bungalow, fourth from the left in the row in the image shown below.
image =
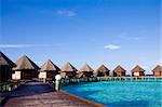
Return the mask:
[(60, 69), (62, 78), (73, 78), (76, 77), (77, 69), (68, 62)]

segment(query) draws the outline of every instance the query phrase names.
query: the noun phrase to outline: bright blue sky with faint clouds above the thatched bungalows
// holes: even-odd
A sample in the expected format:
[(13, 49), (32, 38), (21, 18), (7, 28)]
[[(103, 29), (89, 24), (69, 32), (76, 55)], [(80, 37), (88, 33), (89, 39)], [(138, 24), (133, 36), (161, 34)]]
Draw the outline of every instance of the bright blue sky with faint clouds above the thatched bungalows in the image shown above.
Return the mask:
[[(161, 0), (1, 0), (0, 50), (94, 69), (105, 64), (149, 73), (160, 57)], [(127, 71), (129, 73), (129, 71)]]

